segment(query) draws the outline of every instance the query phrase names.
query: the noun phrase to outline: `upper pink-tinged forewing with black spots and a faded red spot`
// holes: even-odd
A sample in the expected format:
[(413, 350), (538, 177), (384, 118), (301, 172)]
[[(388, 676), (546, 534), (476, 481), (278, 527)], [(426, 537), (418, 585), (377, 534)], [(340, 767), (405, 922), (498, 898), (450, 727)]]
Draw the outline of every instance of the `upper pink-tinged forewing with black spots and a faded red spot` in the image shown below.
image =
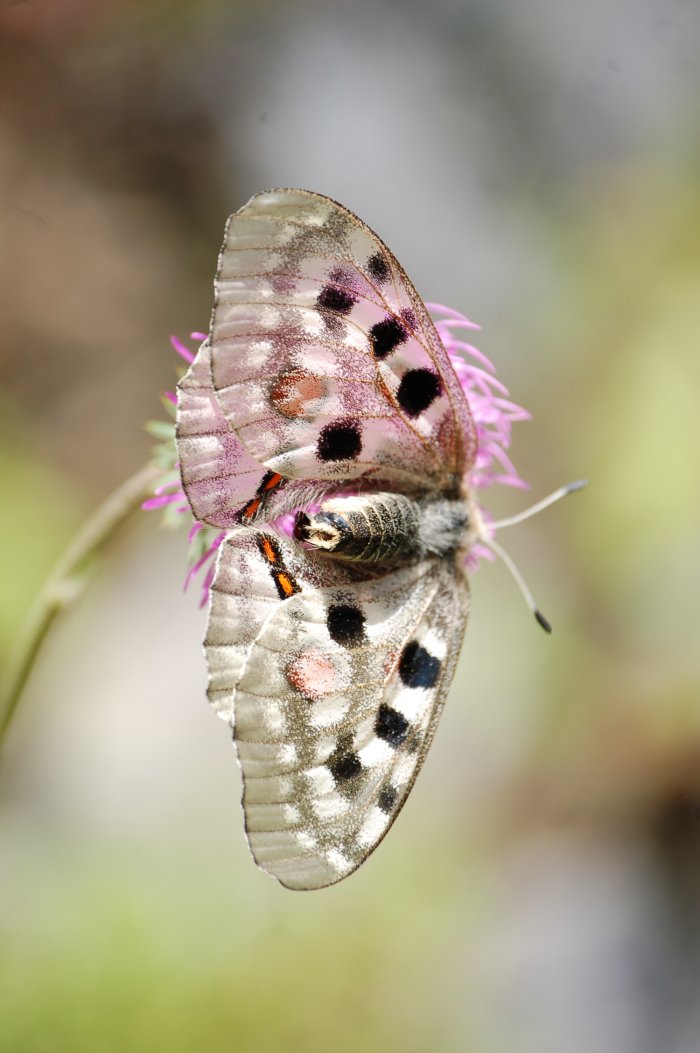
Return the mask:
[(268, 471), (451, 490), (476, 435), (420, 297), (357, 216), (306, 191), (258, 194), (227, 223), (212, 376)]

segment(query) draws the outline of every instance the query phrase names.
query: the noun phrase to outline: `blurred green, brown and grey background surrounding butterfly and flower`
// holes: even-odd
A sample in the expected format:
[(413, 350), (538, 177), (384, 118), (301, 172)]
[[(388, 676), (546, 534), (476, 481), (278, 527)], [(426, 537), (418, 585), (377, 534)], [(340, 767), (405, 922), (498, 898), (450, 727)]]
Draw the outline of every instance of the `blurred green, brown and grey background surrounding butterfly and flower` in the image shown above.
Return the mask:
[[(148, 457), (227, 214), (304, 186), (534, 422), (416, 789), (354, 877), (248, 856), (184, 535), (139, 514), (0, 758), (0, 1050), (700, 1050), (700, 5), (3, 0), (6, 654)], [(492, 511), (523, 497), (494, 494)]]

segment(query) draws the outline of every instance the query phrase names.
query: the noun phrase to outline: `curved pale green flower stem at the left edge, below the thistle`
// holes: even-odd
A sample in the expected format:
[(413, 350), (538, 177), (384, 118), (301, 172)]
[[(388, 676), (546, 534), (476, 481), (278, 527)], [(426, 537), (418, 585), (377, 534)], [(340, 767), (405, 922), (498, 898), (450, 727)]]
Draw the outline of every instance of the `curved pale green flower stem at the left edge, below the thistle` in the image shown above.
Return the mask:
[(161, 475), (162, 469), (148, 464), (118, 486), (79, 531), (47, 578), (11, 652), (0, 682), (0, 746), (54, 621), (75, 602), (86, 583), (85, 564), (152, 493)]

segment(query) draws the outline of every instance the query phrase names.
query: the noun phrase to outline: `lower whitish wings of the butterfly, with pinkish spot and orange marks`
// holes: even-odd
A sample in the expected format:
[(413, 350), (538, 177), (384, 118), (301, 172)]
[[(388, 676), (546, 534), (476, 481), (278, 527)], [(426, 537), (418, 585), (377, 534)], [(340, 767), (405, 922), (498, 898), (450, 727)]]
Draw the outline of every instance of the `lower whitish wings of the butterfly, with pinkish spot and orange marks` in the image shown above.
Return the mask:
[(291, 889), (352, 873), (420, 770), (467, 614), (449, 558), (381, 576), (253, 529), (212, 589), (209, 695), (234, 727), (256, 861)]

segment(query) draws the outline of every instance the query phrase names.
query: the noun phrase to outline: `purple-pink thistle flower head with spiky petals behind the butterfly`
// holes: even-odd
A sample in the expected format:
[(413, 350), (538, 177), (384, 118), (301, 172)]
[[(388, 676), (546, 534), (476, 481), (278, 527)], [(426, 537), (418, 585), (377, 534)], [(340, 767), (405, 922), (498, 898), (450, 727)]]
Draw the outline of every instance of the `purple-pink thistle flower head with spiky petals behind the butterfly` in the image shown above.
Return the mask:
[[(525, 480), (518, 474), (508, 457), (507, 450), (511, 445), (513, 424), (516, 421), (529, 420), (531, 415), (522, 406), (511, 401), (508, 390), (496, 376), (496, 369), (489, 359), (478, 347), (463, 339), (464, 331), (479, 330), (480, 326), (452, 307), (439, 303), (426, 303), (426, 307), (434, 317), (436, 329), (469, 403), (476, 425), (478, 449), (474, 464), (469, 470), (469, 490), (472, 492), (483, 491), (496, 483), (520, 490), (529, 489)], [(191, 334), (191, 338), (201, 343), (206, 340), (206, 334), (195, 332)], [(192, 365), (195, 361), (196, 350), (195, 352), (191, 351), (175, 336), (171, 337), (171, 344), (187, 365)], [(202, 404), (205, 405), (205, 410), (202, 413), (207, 415), (209, 421), (214, 420), (216, 423), (219, 423), (220, 417), (221, 431), (227, 433), (223, 414), (218, 409), (216, 400), (212, 397), (207, 398), (208, 391), (201, 382), (197, 386), (197, 394), (204, 399)], [(156, 421), (148, 425), (148, 431), (159, 439), (158, 445), (154, 450), (154, 459), (156, 463), (162, 464), (163, 477), (159, 480), (154, 496), (144, 501), (142, 508), (147, 511), (162, 510), (165, 513), (166, 522), (171, 525), (178, 521), (181, 522), (182, 514), (189, 513), (192, 515), (194, 522), (191, 523), (188, 534), (191, 565), (184, 580), (184, 588), (187, 589), (191, 582), (203, 572), (200, 580), (200, 607), (203, 607), (208, 599), (209, 588), (214, 580), (216, 554), (226, 536), (226, 529), (217, 529), (209, 523), (216, 522), (217, 516), (219, 528), (228, 528), (234, 523), (231, 520), (229, 511), (226, 512), (220, 506), (221, 502), (217, 505), (215, 516), (207, 515), (208, 522), (202, 522), (197, 518), (197, 512), (200, 510), (199, 508), (193, 509), (191, 501), (185, 496), (177, 462), (175, 448), (177, 396), (173, 392), (166, 392), (163, 402), (171, 421)], [(218, 456), (221, 459), (224, 477), (226, 470), (232, 475), (235, 471), (251, 474), (255, 468), (258, 468), (257, 464), (253, 469), (251, 468), (252, 459), (243, 451), (233, 433), (227, 433), (222, 437)], [(191, 485), (191, 498), (193, 498), (195, 490), (196, 483)], [(197, 503), (196, 498), (195, 503)], [(488, 532), (489, 516), (484, 511), (480, 500), (478, 504), (484, 528)], [(307, 502), (305, 506), (307, 506)], [(287, 512), (275, 519), (275, 525), (281, 532), (292, 536), (294, 519), (294, 513)], [(489, 549), (476, 543), (469, 550), (466, 561), (471, 569), (476, 569), (480, 559), (493, 560), (494, 558), (494, 553)]]

